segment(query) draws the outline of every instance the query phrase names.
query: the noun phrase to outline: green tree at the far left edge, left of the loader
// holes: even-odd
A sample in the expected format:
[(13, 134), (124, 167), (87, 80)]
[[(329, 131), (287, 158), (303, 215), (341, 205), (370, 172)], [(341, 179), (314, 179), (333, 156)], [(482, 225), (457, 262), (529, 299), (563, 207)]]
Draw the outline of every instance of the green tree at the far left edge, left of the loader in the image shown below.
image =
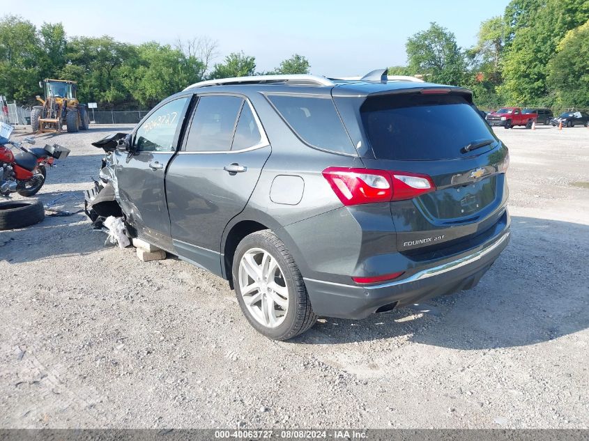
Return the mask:
[(39, 91), (41, 56), (35, 25), (8, 15), (0, 20), (0, 91), (8, 99), (32, 104)]

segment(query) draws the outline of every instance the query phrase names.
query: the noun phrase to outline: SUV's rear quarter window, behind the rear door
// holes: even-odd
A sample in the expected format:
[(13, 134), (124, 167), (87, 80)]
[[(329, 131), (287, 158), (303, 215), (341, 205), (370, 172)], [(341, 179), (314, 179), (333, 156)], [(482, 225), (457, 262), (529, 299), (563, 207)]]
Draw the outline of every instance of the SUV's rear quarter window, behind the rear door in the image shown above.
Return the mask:
[(330, 97), (268, 95), (268, 100), (309, 146), (357, 154)]

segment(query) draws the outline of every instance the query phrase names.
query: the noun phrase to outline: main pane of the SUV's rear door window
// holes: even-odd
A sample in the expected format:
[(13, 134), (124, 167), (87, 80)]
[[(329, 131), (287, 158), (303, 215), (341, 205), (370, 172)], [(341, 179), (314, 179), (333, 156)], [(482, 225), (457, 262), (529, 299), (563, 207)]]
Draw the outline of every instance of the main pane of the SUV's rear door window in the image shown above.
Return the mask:
[(213, 95), (199, 98), (186, 139), (186, 151), (231, 150), (242, 104), (243, 98), (236, 96)]

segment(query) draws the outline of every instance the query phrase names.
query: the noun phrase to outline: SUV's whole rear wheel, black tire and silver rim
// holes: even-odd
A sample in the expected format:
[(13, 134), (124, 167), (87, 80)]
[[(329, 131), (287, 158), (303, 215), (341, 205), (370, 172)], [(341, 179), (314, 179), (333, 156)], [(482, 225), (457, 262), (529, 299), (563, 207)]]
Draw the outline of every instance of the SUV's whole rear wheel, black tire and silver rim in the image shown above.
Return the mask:
[(268, 338), (291, 339), (316, 322), (303, 276), (272, 231), (243, 238), (234, 255), (232, 275), (243, 314)]

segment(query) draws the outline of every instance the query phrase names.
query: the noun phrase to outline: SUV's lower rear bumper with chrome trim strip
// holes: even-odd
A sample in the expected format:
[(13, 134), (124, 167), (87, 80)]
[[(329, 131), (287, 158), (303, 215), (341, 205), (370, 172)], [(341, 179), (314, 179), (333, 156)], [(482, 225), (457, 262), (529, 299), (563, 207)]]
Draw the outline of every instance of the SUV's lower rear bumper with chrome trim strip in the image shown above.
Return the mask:
[(399, 281), (355, 286), (305, 278), (305, 286), (313, 310), (319, 316), (365, 318), (385, 305), (404, 307), (427, 298), (473, 288), (505, 249), (509, 237), (507, 227), (476, 250)]

